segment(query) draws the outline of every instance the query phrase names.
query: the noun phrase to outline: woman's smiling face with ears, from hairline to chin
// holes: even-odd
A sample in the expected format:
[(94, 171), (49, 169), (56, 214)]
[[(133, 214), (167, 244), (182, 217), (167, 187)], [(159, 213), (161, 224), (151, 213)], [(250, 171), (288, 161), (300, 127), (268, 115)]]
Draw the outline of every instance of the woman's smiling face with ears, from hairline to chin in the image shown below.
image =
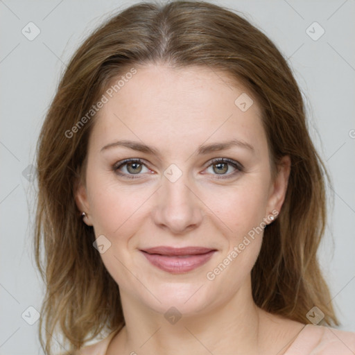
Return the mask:
[(76, 202), (123, 304), (192, 314), (250, 297), (289, 173), (271, 179), (257, 102), (205, 67), (151, 64), (116, 91), (95, 118)]

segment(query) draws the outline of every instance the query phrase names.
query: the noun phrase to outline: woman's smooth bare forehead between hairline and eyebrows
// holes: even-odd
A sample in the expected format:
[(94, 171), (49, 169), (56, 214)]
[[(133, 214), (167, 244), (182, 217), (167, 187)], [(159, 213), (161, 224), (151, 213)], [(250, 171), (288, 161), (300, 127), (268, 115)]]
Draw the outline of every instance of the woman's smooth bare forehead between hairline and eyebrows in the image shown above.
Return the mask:
[(119, 139), (144, 141), (165, 151), (231, 139), (265, 148), (259, 105), (222, 71), (150, 64), (137, 67), (112, 97), (105, 96), (92, 132), (95, 150)]

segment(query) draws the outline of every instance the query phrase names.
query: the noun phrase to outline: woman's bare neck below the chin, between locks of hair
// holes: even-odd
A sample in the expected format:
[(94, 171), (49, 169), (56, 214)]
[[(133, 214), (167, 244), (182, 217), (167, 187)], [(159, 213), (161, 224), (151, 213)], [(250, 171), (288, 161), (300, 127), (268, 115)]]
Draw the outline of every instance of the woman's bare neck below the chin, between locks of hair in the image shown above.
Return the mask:
[(250, 279), (227, 302), (209, 306), (209, 311), (182, 315), (175, 323), (174, 318), (168, 322), (164, 314), (147, 309), (129, 295), (122, 293), (121, 300), (126, 324), (120, 343), (125, 354), (259, 353), (261, 310), (252, 300)]

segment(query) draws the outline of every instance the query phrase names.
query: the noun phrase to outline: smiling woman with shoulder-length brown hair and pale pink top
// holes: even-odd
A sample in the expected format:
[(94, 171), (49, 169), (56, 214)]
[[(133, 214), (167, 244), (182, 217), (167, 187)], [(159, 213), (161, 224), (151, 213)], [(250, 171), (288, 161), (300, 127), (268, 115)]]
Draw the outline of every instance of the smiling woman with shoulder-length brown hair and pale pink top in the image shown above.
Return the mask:
[(239, 15), (112, 17), (71, 59), (37, 153), (46, 354), (57, 326), (71, 354), (355, 352), (316, 259), (328, 175), (300, 90)]

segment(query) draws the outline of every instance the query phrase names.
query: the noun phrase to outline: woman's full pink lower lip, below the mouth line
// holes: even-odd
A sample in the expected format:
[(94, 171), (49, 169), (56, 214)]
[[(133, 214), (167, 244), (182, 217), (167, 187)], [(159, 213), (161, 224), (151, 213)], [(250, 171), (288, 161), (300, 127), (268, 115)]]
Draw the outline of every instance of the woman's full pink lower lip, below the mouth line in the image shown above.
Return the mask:
[(147, 252), (142, 253), (144, 254), (144, 257), (146, 257), (148, 261), (150, 261), (150, 263), (157, 268), (166, 272), (171, 272), (172, 274), (182, 274), (207, 263), (215, 251), (216, 250), (211, 250), (205, 254), (189, 255), (187, 257), (168, 257), (160, 254), (148, 254)]

